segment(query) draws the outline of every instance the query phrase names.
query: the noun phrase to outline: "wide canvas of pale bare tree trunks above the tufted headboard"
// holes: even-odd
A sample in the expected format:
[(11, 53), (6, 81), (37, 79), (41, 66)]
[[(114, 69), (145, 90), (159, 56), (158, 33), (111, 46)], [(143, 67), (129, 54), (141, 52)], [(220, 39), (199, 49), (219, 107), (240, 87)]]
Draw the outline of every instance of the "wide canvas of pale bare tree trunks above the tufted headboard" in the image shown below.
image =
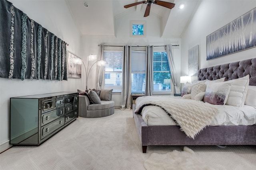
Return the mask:
[(256, 47), (256, 8), (206, 37), (206, 60)]

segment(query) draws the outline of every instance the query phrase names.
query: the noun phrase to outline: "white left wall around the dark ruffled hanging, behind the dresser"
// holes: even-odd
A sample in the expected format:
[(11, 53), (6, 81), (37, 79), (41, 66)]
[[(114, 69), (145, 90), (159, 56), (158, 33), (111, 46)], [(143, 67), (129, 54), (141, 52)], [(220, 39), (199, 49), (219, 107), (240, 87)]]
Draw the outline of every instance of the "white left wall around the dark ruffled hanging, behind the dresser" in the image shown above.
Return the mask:
[[(44, 28), (54, 33), (69, 44), (68, 51), (80, 56), (80, 33), (66, 2), (63, 0), (9, 0), (14, 6), (28, 15), (29, 18), (40, 23)], [(76, 92), (82, 88), (83, 79), (68, 78), (68, 81), (24, 80), (0, 78), (0, 152), (8, 149), (10, 134), (10, 98), (52, 92)]]

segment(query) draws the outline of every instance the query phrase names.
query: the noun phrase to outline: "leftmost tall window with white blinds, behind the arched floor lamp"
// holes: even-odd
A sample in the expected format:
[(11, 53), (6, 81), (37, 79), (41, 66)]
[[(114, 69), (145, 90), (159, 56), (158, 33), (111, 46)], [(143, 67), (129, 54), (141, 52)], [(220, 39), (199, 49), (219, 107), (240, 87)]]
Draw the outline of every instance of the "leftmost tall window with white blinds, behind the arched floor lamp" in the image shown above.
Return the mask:
[(104, 89), (113, 89), (113, 92), (122, 90), (122, 61), (123, 47), (104, 47)]

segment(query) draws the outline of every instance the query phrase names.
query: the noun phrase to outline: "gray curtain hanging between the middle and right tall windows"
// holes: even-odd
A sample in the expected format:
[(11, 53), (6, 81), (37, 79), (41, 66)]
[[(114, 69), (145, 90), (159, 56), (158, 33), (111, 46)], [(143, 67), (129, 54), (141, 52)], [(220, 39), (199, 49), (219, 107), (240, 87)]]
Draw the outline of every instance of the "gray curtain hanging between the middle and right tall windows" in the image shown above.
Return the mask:
[(153, 55), (154, 46), (146, 46), (146, 87), (145, 96), (152, 96), (153, 91)]

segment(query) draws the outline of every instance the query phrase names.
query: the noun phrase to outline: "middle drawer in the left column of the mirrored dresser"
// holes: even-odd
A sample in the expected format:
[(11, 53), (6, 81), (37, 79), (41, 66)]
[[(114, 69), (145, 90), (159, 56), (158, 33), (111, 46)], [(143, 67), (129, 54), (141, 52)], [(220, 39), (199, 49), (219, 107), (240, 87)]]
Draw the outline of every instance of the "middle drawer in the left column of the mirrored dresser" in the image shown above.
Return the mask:
[(46, 112), (41, 115), (41, 125), (44, 126), (47, 123), (50, 123), (63, 115), (64, 115), (64, 107)]

